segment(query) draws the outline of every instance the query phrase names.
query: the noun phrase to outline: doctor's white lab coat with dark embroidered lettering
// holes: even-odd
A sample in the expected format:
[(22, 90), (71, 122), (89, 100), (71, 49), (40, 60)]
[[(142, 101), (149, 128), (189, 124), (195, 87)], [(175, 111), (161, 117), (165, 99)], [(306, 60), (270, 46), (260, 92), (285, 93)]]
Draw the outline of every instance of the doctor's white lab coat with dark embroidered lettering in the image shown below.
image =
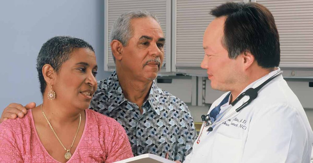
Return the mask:
[[(256, 88), (279, 71), (278, 68), (270, 72), (244, 91)], [(208, 113), (227, 94), (218, 98)], [(228, 114), (247, 99), (245, 97), (239, 101)], [(221, 111), (228, 105), (224, 104)], [(207, 129), (202, 125), (202, 135), (199, 134), (184, 163), (310, 162), (313, 132), (303, 107), (282, 75), (260, 89), (258, 97), (239, 114), (224, 121), (210, 133)]]

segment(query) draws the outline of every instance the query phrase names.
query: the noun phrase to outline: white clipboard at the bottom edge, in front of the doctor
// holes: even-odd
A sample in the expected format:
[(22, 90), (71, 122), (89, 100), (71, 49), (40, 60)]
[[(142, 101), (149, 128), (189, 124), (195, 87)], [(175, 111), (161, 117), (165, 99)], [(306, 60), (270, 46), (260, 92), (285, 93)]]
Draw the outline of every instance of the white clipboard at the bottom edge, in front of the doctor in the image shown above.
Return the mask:
[(122, 161), (117, 161), (115, 163), (174, 163), (174, 161), (170, 161), (163, 157), (147, 153), (136, 157), (131, 157)]

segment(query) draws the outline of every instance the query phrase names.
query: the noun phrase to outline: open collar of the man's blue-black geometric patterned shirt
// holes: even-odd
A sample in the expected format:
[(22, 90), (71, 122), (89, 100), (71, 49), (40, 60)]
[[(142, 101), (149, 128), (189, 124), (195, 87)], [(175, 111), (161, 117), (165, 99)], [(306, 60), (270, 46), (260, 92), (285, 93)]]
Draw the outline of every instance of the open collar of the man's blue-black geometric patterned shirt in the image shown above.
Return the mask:
[[(124, 93), (123, 93), (122, 88), (121, 88), (121, 85), (118, 81), (116, 71), (114, 71), (111, 74), (111, 76), (109, 77), (109, 80), (113, 81), (113, 90), (114, 90), (115, 96), (116, 96), (116, 101), (113, 100), (112, 103), (117, 103), (117, 107), (118, 107), (122, 103), (127, 101), (127, 99), (125, 98)], [(160, 109), (159, 109), (158, 105), (161, 103), (160, 102), (160, 98), (161, 98), (160, 94), (161, 93), (162, 92), (159, 92), (159, 89), (156, 86), (155, 81), (153, 80), (147, 101), (149, 101), (149, 104), (151, 105), (152, 110), (154, 110), (158, 115), (160, 115)]]

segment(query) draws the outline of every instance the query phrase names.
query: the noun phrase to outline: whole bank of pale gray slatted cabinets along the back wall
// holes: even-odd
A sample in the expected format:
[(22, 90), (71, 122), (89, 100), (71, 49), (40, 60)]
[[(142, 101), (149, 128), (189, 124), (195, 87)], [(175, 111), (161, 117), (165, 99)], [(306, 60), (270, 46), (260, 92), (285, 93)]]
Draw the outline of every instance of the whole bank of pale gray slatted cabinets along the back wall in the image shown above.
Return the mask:
[[(211, 89), (209, 80), (202, 80), (201, 76), (207, 76), (206, 70), (200, 68), (204, 56), (202, 37), (206, 27), (214, 19), (209, 14), (210, 10), (227, 1), (105, 0), (105, 71), (115, 69), (109, 40), (114, 20), (124, 12), (147, 10), (156, 14), (166, 36), (165, 60), (160, 74), (198, 76), (192, 79), (169, 76), (173, 79), (171, 84), (158, 83), (158, 86), (192, 105), (212, 103), (223, 92)], [(308, 80), (313, 82), (313, 0), (231, 1), (257, 2), (272, 12), (280, 35), (280, 67), (284, 70), (283, 76), (286, 79), (292, 78), (288, 80), (288, 84), (302, 105), (313, 108), (313, 88), (308, 87)]]

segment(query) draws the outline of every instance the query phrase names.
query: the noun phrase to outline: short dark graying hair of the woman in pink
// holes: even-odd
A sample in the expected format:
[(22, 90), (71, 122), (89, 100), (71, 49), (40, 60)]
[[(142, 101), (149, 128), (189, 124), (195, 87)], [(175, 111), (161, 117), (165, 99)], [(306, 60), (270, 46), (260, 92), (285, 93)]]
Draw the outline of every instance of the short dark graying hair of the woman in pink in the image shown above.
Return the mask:
[(49, 39), (41, 47), (37, 57), (37, 71), (40, 83), (40, 91), (44, 94), (46, 89), (46, 81), (42, 74), (42, 68), (45, 64), (49, 64), (54, 68), (55, 72), (59, 72), (62, 64), (69, 60), (70, 53), (78, 48), (87, 48), (95, 52), (94, 48), (86, 41), (70, 36), (56, 36)]

